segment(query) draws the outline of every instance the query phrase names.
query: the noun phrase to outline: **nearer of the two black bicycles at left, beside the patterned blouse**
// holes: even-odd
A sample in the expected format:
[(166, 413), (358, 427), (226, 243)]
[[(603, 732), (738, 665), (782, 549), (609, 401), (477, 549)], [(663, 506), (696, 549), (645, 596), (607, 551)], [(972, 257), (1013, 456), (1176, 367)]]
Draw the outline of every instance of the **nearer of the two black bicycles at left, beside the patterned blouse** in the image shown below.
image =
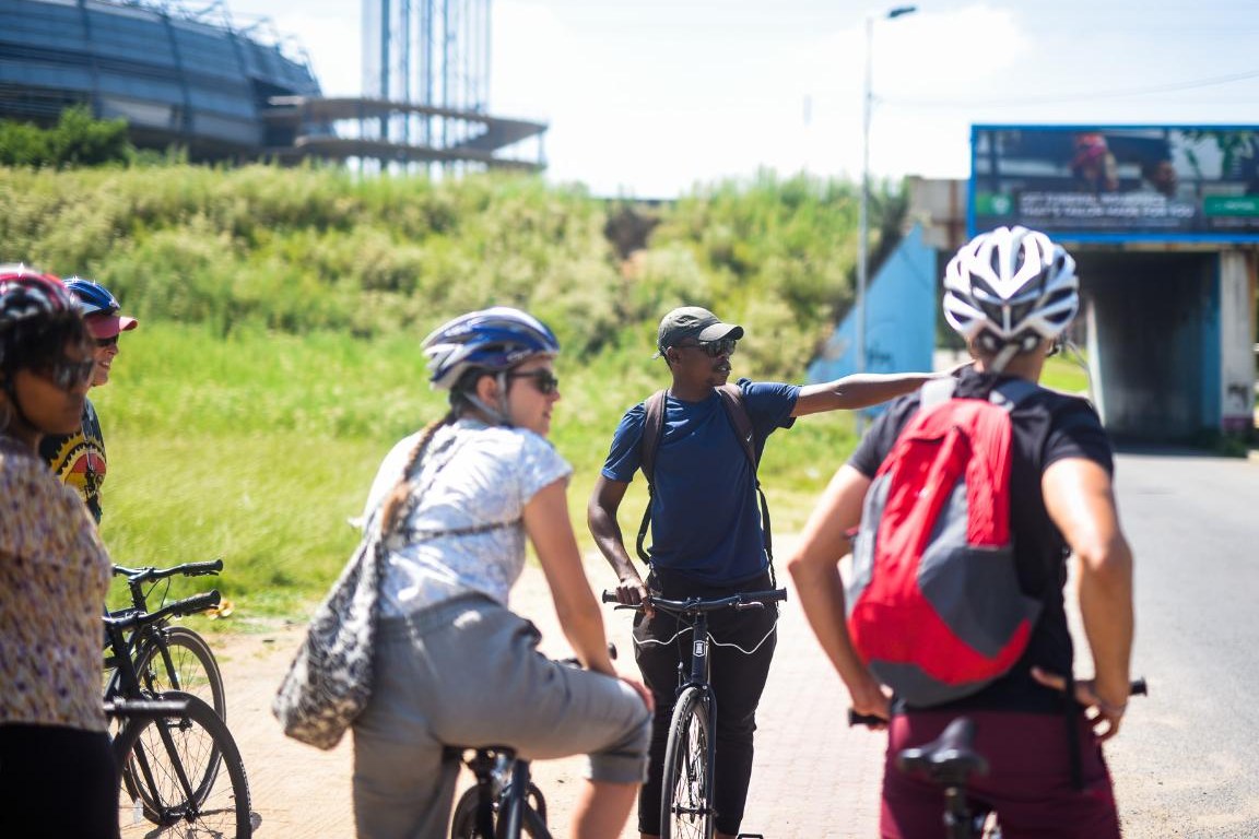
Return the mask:
[[(217, 600), (218, 592), (210, 592), (154, 613), (104, 618), (117, 662), (106, 708), (118, 723), (113, 755), (121, 775), (118, 821), (125, 838), (253, 835), (244, 761), (227, 723), (196, 696), (146, 687), (130, 655), (131, 639), (146, 626)], [(141, 712), (155, 701), (175, 701), (180, 709)]]

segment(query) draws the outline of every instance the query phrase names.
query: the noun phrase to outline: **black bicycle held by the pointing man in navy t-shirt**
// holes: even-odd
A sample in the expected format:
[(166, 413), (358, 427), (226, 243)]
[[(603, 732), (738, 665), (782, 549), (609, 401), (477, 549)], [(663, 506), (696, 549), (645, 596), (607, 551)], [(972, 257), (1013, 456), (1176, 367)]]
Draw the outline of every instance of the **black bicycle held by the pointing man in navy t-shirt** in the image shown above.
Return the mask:
[(669, 723), (669, 745), (665, 750), (665, 776), (660, 797), (661, 839), (700, 836), (711, 839), (716, 808), (713, 800), (713, 760), (716, 742), (716, 702), (709, 684), (709, 613), (720, 609), (764, 609), (787, 600), (786, 589), (748, 591), (728, 597), (689, 597), (666, 600), (648, 597), (637, 606), (621, 605), (612, 591), (603, 592), (603, 603), (616, 603), (618, 609), (641, 610), (643, 605), (675, 615), (691, 628), (690, 672), (679, 668), (677, 699)]

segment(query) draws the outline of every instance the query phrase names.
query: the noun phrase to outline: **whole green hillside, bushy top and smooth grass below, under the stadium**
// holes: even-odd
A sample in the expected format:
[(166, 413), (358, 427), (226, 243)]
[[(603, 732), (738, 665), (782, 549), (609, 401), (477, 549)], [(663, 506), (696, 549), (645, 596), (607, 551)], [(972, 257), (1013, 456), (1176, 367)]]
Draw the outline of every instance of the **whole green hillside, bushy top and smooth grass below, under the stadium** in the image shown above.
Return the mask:
[[(851, 185), (771, 174), (645, 210), (519, 176), (0, 169), (0, 260), (97, 278), (142, 321), (92, 394), (116, 561), (223, 556), (238, 615), (292, 614), (340, 569), (380, 458), (444, 410), (418, 351), (444, 318), (507, 303), (560, 335), (554, 439), (589, 547), (612, 430), (665, 381), (663, 311), (715, 308), (749, 331), (737, 375), (791, 380), (852, 289)], [(628, 259), (608, 236), (626, 213), (653, 228)], [(851, 433), (823, 416), (771, 442), (778, 530), (799, 527)], [(643, 502), (635, 486), (627, 531)]]

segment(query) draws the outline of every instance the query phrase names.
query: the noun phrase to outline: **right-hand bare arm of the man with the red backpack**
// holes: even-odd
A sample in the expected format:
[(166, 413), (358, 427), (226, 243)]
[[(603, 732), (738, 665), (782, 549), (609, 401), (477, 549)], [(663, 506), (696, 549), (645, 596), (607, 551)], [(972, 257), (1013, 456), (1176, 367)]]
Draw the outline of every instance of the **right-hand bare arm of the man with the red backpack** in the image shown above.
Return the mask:
[(1134, 614), (1132, 548), (1119, 527), (1110, 474), (1093, 460), (1068, 458), (1041, 478), (1045, 508), (1079, 564), (1080, 618), (1095, 677), (1080, 684), (1080, 698), (1119, 730), (1128, 703)]

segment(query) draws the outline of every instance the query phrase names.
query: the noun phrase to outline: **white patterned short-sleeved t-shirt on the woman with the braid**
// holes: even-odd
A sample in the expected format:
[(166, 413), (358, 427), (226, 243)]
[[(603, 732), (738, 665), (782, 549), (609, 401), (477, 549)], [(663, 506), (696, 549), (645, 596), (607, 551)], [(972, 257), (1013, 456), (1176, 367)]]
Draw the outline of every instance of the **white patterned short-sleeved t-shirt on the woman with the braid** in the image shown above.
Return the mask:
[[(400, 440), (380, 464), (365, 520), (398, 486), (418, 439)], [(438, 429), (413, 484), (418, 503), (388, 542), (383, 614), (402, 616), (472, 591), (506, 606), (525, 565), (525, 504), (572, 473), (545, 438), (525, 429), (468, 419)], [(494, 525), (504, 526), (449, 533)]]

